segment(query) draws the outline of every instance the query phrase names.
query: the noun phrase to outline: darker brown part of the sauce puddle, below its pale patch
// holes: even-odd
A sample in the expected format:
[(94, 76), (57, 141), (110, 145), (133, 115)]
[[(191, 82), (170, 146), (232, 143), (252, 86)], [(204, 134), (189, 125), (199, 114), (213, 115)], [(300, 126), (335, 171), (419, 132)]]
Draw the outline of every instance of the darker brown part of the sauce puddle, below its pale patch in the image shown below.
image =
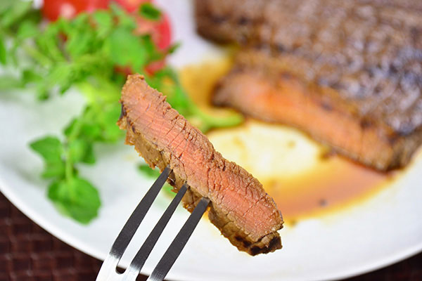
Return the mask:
[(358, 204), (390, 182), (393, 174), (373, 171), (343, 157), (322, 159), (314, 169), (290, 178), (262, 180), (287, 223)]

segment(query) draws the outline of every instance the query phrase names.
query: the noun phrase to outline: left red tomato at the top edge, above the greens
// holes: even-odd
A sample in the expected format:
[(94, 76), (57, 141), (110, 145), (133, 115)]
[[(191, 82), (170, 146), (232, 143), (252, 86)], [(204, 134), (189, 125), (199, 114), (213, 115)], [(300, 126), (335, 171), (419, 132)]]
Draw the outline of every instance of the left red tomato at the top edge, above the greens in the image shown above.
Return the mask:
[(110, 0), (44, 0), (42, 13), (49, 20), (57, 20), (60, 16), (73, 18), (83, 11), (106, 9), (109, 2)]

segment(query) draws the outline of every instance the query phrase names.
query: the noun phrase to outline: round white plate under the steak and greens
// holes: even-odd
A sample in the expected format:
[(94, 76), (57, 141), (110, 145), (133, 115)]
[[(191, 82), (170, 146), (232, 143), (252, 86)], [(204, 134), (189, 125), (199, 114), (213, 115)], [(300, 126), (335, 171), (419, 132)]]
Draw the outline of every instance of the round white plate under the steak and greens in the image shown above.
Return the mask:
[[(191, 3), (159, 1), (170, 13), (174, 33), (182, 46), (172, 58), (175, 65), (197, 62), (218, 49), (194, 32)], [(164, 3), (167, 2), (167, 3)], [(98, 164), (82, 169), (100, 190), (103, 206), (89, 226), (60, 216), (46, 200), (47, 182), (39, 178), (41, 159), (27, 143), (46, 132), (59, 133), (69, 117), (78, 113), (82, 100), (68, 94), (37, 103), (27, 93), (0, 96), (0, 188), (15, 206), (41, 227), (73, 247), (103, 259), (125, 219), (143, 196), (151, 180), (141, 178), (133, 148), (103, 145)], [(283, 228), (283, 249), (251, 257), (238, 252), (220, 237), (207, 220), (200, 221), (181, 256), (167, 276), (170, 280), (330, 280), (374, 270), (416, 254), (422, 249), (422, 157), (388, 188), (361, 204), (336, 214), (300, 221)], [(142, 223), (128, 254), (127, 265), (170, 200), (159, 195)], [(179, 207), (142, 273), (170, 244), (188, 212)]]

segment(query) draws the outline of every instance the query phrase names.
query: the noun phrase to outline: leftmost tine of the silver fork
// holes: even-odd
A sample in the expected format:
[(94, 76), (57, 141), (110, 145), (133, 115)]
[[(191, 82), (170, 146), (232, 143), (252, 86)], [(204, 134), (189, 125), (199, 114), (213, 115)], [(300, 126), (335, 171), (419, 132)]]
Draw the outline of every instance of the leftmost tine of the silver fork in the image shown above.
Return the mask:
[(153, 204), (155, 197), (157, 197), (158, 192), (160, 192), (162, 185), (164, 185), (171, 171), (172, 169), (170, 166), (167, 166), (155, 180), (148, 192), (146, 192), (146, 195), (143, 196), (138, 206), (136, 206), (136, 209), (124, 224), (119, 235), (117, 235), (117, 238), (110, 249), (110, 253), (100, 268), (100, 272), (98, 273), (96, 280), (110, 280), (110, 276), (112, 276), (110, 273), (116, 272), (117, 264), (122, 258), (127, 245), (130, 240), (132, 240), (132, 237), (139, 228), (139, 225)]

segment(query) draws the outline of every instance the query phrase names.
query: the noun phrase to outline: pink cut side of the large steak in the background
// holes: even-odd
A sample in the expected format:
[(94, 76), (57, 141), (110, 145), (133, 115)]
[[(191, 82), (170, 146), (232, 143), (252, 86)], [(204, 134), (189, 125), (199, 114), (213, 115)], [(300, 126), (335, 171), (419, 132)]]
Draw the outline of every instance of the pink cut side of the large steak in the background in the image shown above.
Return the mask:
[(255, 51), (241, 53), (236, 67), (219, 82), (213, 102), (295, 126), (342, 155), (383, 171), (407, 164), (422, 143), (421, 126), (398, 131), (383, 117), (385, 112), (364, 115), (363, 101), (306, 84), (289, 72), (271, 72), (262, 64), (264, 57)]

